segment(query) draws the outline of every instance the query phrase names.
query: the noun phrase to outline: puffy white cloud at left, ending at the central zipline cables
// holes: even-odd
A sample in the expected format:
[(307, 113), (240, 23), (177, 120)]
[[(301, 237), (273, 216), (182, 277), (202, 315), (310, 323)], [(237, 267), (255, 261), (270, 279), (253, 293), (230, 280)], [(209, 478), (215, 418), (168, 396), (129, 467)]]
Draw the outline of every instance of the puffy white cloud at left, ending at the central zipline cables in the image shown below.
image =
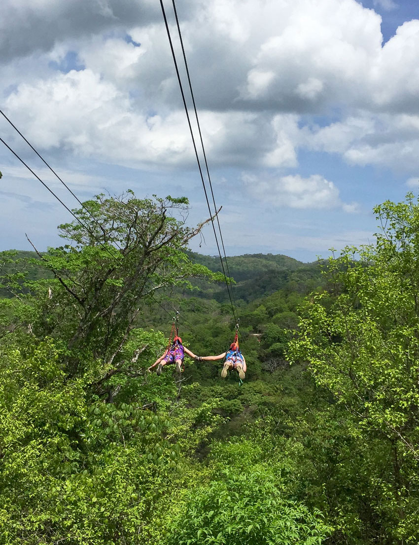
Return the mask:
[(181, 112), (162, 118), (133, 110), (130, 98), (90, 69), (22, 84), (7, 111), (42, 149), (61, 147), (83, 157), (116, 162), (163, 161), (192, 156)]

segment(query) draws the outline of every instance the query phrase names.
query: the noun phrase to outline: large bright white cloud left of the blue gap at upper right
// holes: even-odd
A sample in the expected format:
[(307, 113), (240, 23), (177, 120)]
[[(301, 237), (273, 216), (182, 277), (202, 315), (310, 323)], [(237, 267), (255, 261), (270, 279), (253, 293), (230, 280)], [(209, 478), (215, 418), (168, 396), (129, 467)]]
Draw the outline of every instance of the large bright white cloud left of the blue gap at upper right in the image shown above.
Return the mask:
[[(241, 90), (244, 100), (304, 112), (368, 99), (365, 83), (381, 50), (377, 14), (353, 0), (267, 5), (278, 26), (258, 44)], [(257, 94), (255, 74), (266, 73), (269, 86)]]

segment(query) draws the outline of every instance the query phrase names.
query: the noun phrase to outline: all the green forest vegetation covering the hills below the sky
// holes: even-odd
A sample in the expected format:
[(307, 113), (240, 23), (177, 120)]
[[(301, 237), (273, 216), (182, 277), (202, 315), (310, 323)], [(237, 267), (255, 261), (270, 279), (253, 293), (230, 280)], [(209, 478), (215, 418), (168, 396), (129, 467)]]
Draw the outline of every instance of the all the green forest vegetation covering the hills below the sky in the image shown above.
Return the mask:
[(147, 372), (173, 316), (198, 355), (235, 334), (187, 208), (99, 195), (63, 246), (0, 253), (0, 543), (416, 544), (415, 197), (325, 261), (228, 259), (243, 385)]

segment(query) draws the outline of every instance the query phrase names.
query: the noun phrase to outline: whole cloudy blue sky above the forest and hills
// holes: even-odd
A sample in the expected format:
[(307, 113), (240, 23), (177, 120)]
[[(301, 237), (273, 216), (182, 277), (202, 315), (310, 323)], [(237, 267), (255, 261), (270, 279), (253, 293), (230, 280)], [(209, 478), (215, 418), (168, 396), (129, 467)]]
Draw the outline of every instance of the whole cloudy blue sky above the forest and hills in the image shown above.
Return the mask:
[[(373, 207), (418, 192), (419, 1), (176, 8), (227, 256), (373, 242)], [(189, 224), (208, 217), (158, 0), (3, 0), (0, 63), (1, 109), (79, 199), (187, 196)], [(0, 135), (78, 207), (3, 118)], [(70, 214), (0, 146), (0, 250), (62, 244)], [(190, 247), (216, 255), (211, 228)]]

